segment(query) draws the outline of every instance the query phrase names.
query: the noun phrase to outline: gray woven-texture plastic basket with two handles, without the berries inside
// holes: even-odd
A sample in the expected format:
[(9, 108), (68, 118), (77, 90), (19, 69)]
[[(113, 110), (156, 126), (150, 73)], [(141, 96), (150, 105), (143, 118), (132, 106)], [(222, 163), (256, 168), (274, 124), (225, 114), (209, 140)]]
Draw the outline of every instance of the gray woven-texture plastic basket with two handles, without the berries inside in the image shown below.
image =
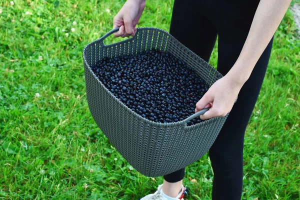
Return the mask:
[(104, 45), (103, 40), (117, 29), (107, 32), (83, 49), (86, 96), (93, 119), (118, 152), (146, 176), (165, 175), (193, 163), (209, 150), (228, 114), (190, 126), (186, 122), (208, 108), (178, 122), (150, 121), (118, 100), (90, 67), (104, 57), (136, 54), (156, 48), (185, 61), (209, 86), (222, 75), (169, 33), (158, 28), (137, 28), (133, 37)]

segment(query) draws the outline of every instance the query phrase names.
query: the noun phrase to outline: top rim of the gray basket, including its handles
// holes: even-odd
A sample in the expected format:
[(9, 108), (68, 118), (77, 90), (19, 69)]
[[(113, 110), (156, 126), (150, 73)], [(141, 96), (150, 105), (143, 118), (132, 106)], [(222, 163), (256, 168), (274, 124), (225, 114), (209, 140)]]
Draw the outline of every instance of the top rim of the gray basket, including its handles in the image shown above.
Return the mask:
[[(182, 46), (184, 46), (186, 48), (186, 50), (188, 50), (190, 53), (193, 54), (193, 56), (196, 56), (197, 58), (199, 58), (202, 62), (206, 63), (209, 67), (212, 68), (212, 70), (215, 70), (215, 72), (217, 74), (215, 75), (220, 75), (222, 76), (213, 66), (211, 66), (208, 62), (206, 62), (205, 60), (203, 60), (200, 56), (198, 56), (197, 54), (195, 54), (192, 50), (190, 50), (189, 48), (187, 48), (185, 45), (183, 45), (181, 42), (179, 42), (175, 37), (173, 37), (171, 34), (169, 34), (168, 32), (166, 32), (165, 30), (162, 30), (162, 29), (159, 29), (159, 28), (155, 28), (155, 27), (139, 27), (136, 29), (136, 32), (137, 31), (142, 31), (142, 30), (158, 30), (158, 31), (162, 31), (164, 33), (166, 33), (169, 37), (171, 37), (172, 39), (174, 39), (176, 42), (180, 43)], [(137, 35), (137, 34), (135, 34)], [(151, 121), (147, 118), (144, 118), (142, 116), (140, 116), (139, 114), (137, 114), (136, 112), (132, 111), (131, 108), (129, 108), (126, 104), (124, 104), (122, 101), (120, 101), (118, 98), (116, 98), (110, 91), (107, 87), (105, 87), (105, 85), (98, 79), (98, 77), (94, 74), (94, 72), (91, 70), (89, 64), (87, 63), (86, 61), (86, 58), (85, 58), (85, 51), (86, 49), (90, 46), (90, 45), (93, 45), (95, 43), (102, 43), (101, 45), (102, 46), (114, 46), (114, 45), (118, 45), (120, 43), (123, 43), (123, 42), (126, 42), (126, 41), (130, 41), (130, 40), (133, 40), (135, 38), (135, 35), (131, 38), (126, 38), (122, 41), (118, 41), (118, 42), (115, 42), (115, 43), (111, 43), (111, 44), (103, 44), (103, 40), (102, 39), (96, 39), (88, 44), (86, 44), (86, 46), (84, 47), (83, 51), (82, 51), (82, 57), (83, 57), (83, 62), (84, 62), (84, 65), (87, 67), (88, 71), (92, 73), (92, 76), (93, 78), (95, 78), (97, 80), (97, 82), (105, 88), (105, 91), (108, 92), (108, 94), (114, 99), (114, 101), (116, 101), (118, 104), (120, 104), (122, 107), (124, 107), (127, 111), (129, 111), (129, 113), (133, 114), (135, 117), (139, 118), (140, 120), (143, 120), (143, 121), (146, 121), (147, 123), (150, 123), (151, 125), (156, 125), (156, 126), (177, 126), (177, 125), (181, 125), (184, 127), (184, 129), (194, 129), (194, 128), (197, 128), (199, 126), (203, 126), (203, 125), (207, 125), (207, 123), (213, 123), (217, 118), (219, 117), (227, 117), (227, 115), (229, 113), (227, 113), (225, 116), (216, 116), (216, 117), (212, 117), (212, 118), (209, 118), (209, 119), (206, 119), (204, 121), (201, 121), (199, 123), (196, 123), (196, 124), (192, 124), (192, 125), (187, 125), (186, 122), (184, 122), (183, 120), (180, 120), (180, 121), (177, 121), (177, 122), (170, 122), (170, 123), (160, 123), (160, 122), (155, 122), (155, 121)]]

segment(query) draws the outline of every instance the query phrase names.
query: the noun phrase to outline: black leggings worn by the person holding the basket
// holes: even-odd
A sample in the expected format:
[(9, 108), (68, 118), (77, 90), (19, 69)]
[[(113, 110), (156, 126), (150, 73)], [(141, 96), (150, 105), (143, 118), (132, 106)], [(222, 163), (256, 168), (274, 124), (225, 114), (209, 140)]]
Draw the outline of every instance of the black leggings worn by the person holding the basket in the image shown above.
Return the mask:
[[(209, 60), (218, 35), (217, 70), (225, 75), (239, 56), (258, 2), (175, 0), (170, 34), (206, 61)], [(214, 172), (212, 199), (241, 198), (244, 132), (261, 88), (272, 40), (242, 86), (236, 103), (209, 149)], [(177, 182), (183, 179), (184, 169), (163, 177), (168, 182)]]

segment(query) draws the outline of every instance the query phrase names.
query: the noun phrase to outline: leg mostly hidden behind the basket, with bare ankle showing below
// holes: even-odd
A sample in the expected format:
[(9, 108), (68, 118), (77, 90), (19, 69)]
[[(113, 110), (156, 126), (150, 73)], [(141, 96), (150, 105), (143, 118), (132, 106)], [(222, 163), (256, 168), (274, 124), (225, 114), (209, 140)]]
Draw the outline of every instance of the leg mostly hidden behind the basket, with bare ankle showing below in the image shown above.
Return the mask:
[[(213, 24), (199, 14), (200, 6), (196, 1), (175, 0), (169, 32), (183, 45), (208, 61), (217, 33)], [(166, 195), (178, 195), (184, 169), (185, 167), (163, 176), (162, 190)]]

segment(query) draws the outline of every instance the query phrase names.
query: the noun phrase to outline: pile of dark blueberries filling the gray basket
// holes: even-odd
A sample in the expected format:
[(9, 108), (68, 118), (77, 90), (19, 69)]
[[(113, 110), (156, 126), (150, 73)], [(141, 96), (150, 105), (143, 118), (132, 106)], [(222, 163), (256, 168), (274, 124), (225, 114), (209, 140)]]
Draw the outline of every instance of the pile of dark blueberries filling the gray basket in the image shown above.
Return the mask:
[[(106, 57), (92, 67), (107, 89), (132, 111), (151, 121), (170, 123), (194, 114), (208, 85), (195, 70), (156, 49)], [(202, 121), (196, 117), (187, 125)]]

